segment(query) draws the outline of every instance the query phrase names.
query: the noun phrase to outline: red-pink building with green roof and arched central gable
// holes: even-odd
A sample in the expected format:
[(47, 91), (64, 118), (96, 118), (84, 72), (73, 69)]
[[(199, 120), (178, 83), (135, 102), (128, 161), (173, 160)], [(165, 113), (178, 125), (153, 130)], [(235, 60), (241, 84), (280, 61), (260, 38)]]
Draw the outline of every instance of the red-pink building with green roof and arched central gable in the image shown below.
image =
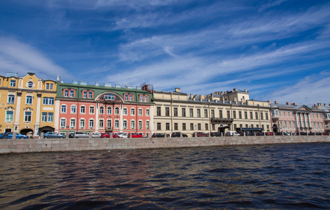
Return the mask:
[[(148, 89), (148, 88), (147, 88)], [(141, 87), (104, 83), (57, 83), (55, 130), (68, 132), (138, 132), (153, 130), (152, 93)]]

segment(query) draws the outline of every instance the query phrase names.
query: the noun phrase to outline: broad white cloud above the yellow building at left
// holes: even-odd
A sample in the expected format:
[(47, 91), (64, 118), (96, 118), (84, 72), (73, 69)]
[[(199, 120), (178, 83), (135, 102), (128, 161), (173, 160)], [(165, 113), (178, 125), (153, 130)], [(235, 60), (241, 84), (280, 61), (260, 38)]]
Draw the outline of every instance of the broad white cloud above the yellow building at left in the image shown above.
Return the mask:
[(31, 71), (54, 79), (56, 75), (71, 77), (65, 69), (54, 64), (31, 45), (8, 37), (0, 37), (0, 45), (0, 61), (2, 63), (0, 71), (3, 75), (6, 71), (15, 71), (21, 75)]

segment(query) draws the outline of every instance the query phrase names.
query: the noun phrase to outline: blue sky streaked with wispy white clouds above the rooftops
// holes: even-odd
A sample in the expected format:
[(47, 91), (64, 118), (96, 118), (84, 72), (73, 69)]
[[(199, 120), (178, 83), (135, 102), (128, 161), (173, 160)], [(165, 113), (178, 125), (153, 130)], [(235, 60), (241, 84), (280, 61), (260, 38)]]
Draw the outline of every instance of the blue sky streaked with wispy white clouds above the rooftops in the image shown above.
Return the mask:
[(330, 103), (330, 2), (0, 0), (0, 74)]

